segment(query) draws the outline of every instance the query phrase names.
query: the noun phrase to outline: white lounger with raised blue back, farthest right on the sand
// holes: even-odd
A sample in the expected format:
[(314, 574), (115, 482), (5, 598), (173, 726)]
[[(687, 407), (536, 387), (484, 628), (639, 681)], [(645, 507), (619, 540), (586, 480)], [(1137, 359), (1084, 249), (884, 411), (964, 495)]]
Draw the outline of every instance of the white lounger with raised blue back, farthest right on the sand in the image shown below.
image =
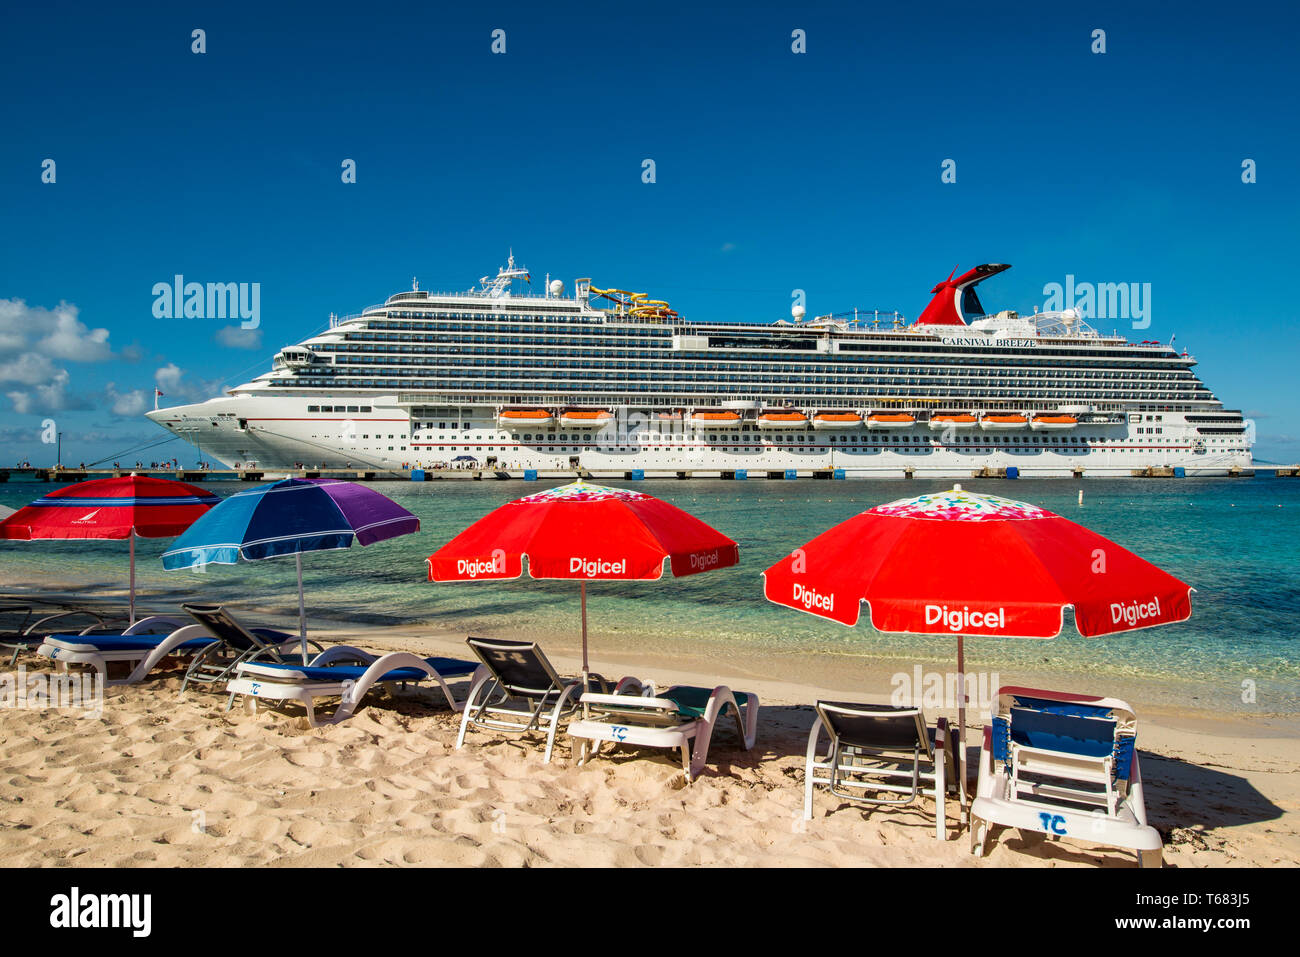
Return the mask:
[(1138, 852), (1158, 867), (1160, 832), (1147, 823), (1136, 715), (1118, 698), (1000, 688), (984, 726), (971, 806), (971, 850), (993, 824)]

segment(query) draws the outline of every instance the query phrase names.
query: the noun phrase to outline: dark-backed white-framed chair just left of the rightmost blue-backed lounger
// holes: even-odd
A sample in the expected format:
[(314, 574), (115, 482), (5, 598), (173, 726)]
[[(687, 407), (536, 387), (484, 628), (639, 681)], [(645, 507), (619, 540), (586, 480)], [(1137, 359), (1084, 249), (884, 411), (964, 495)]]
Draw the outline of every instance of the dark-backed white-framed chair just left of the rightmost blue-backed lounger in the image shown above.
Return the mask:
[[(829, 742), (819, 757), (823, 729)], [(927, 794), (935, 800), (935, 836), (946, 840), (948, 796), (957, 797), (961, 819), (966, 810), (957, 748), (946, 719), (931, 728), (919, 707), (819, 701), (803, 770), (803, 819), (812, 819), (818, 784), (842, 801), (870, 805), (907, 805)]]

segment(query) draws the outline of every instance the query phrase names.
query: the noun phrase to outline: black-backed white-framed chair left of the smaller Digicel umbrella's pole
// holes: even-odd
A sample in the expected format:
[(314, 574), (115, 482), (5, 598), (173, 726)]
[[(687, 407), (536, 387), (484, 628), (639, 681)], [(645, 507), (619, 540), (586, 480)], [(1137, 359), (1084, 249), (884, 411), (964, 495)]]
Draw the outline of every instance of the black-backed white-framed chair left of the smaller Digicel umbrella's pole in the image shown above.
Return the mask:
[[(545, 731), (543, 761), (549, 762), (560, 722), (577, 709), (582, 679), (560, 677), (536, 641), (474, 637), (465, 641), (484, 663), (484, 672), (469, 689), (456, 748), (464, 745), (471, 727), (510, 733)], [(599, 675), (590, 675), (589, 680), (604, 688)]]

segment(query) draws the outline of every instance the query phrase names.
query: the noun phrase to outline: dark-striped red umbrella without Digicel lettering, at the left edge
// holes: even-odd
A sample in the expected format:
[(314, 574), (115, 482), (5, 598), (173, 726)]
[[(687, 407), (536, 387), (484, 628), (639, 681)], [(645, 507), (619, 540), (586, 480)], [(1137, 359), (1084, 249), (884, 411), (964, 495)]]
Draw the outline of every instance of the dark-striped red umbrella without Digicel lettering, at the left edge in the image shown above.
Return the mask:
[(51, 492), (20, 508), (0, 521), (0, 538), (129, 538), (134, 624), (135, 537), (173, 538), (220, 501), (211, 492), (170, 478), (96, 478)]

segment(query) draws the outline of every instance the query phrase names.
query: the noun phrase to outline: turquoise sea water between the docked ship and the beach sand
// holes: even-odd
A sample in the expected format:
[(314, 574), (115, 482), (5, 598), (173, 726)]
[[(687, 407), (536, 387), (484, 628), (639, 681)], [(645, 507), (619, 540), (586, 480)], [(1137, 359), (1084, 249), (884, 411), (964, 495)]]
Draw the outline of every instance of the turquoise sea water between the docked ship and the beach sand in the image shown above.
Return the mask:
[[(967, 480), (971, 490), (1050, 508), (1113, 538), (1196, 588), (1192, 620), (1105, 638), (1080, 638), (1072, 623), (1052, 641), (980, 638), (970, 667), (1017, 667), (1117, 676), (1239, 697), (1257, 683), (1257, 707), (1300, 713), (1300, 480)], [(20, 507), (51, 485), (0, 485), (0, 503)], [(226, 495), (247, 488), (211, 482)], [(419, 534), (304, 559), (308, 615), (367, 623), (422, 623), (497, 636), (573, 636), (577, 586), (571, 583), (430, 584), (425, 557), (495, 506), (542, 482), (382, 482), (377, 488), (420, 516)], [(606, 641), (655, 654), (718, 659), (763, 654), (880, 655), (949, 662), (950, 638), (849, 629), (777, 607), (762, 597), (759, 572), (789, 549), (881, 502), (945, 488), (931, 481), (645, 481), (636, 488), (698, 515), (741, 545), (734, 568), (659, 583), (589, 586), (592, 646)], [(1076, 502), (1079, 489), (1084, 505)], [(296, 614), (291, 560), (166, 572), (166, 541), (138, 542), (143, 601), (203, 594), (238, 606)], [(0, 542), (0, 584), (53, 580), (84, 590), (125, 586), (125, 542)], [(781, 677), (781, 675), (772, 675)]]

